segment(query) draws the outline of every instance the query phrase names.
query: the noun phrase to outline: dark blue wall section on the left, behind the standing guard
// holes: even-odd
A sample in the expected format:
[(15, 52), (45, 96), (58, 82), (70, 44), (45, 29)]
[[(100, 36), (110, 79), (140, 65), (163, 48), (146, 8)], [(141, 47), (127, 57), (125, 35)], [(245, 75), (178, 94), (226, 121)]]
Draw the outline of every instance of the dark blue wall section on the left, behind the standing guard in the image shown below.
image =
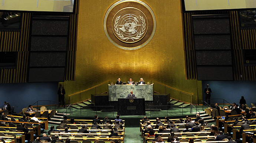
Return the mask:
[[(58, 84), (58, 82), (0, 84), (0, 107), (3, 107), (6, 101), (14, 106), (14, 112), (19, 113), (38, 100), (58, 101)], [(49, 105), (49, 102), (44, 101), (39, 104)]]

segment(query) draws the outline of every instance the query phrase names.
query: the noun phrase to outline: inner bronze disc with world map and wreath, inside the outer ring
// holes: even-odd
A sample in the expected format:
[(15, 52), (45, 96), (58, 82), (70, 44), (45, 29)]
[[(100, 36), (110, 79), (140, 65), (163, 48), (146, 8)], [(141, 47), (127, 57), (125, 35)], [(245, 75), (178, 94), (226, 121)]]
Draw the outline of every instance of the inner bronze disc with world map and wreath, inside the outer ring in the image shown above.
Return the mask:
[(137, 42), (147, 33), (147, 17), (137, 8), (124, 8), (114, 16), (112, 30), (116, 38), (123, 42)]

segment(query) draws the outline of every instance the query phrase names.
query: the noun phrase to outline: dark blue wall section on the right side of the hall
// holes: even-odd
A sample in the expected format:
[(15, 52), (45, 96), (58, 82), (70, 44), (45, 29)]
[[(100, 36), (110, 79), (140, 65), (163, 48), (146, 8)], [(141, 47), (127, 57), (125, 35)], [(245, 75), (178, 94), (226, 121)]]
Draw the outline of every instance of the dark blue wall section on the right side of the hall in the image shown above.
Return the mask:
[[(239, 104), (241, 96), (244, 96), (249, 107), (252, 107), (251, 103), (255, 104), (256, 102), (256, 81), (202, 81), (203, 100), (205, 99), (204, 88), (207, 84), (212, 91), (211, 99), (223, 98), (231, 104), (233, 102)], [(223, 100), (213, 100), (212, 102), (223, 103)]]

